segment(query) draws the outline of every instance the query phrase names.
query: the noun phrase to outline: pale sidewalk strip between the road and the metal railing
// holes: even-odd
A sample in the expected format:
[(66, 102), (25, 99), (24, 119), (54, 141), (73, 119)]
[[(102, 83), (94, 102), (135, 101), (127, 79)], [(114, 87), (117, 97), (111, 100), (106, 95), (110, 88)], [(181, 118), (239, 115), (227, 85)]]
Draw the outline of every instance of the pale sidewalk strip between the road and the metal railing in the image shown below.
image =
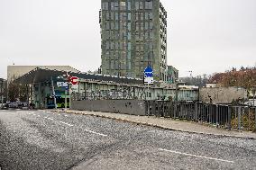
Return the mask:
[(200, 125), (193, 121), (177, 121), (166, 118), (156, 118), (153, 116), (134, 116), (128, 114), (110, 113), (110, 112), (87, 112), (87, 111), (74, 111), (74, 110), (54, 110), (54, 112), (67, 112), (76, 114), (85, 114), (91, 116), (98, 116), (102, 118), (114, 119), (119, 121), (129, 121), (133, 123), (138, 123), (142, 125), (154, 126), (166, 130), (178, 130), (190, 133), (198, 134), (208, 134), (215, 136), (226, 136), (226, 137), (236, 137), (236, 138), (248, 138), (256, 139), (256, 133), (247, 131), (228, 131), (216, 129), (214, 127), (208, 127), (206, 125)]

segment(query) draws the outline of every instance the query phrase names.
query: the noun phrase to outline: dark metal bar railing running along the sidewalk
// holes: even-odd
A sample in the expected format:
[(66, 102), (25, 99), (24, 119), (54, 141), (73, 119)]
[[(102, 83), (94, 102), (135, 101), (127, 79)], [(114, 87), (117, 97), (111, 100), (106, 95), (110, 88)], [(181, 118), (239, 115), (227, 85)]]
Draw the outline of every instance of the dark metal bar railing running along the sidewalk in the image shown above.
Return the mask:
[(145, 105), (147, 115), (205, 122), (228, 130), (256, 130), (256, 107), (170, 101), (145, 101)]

